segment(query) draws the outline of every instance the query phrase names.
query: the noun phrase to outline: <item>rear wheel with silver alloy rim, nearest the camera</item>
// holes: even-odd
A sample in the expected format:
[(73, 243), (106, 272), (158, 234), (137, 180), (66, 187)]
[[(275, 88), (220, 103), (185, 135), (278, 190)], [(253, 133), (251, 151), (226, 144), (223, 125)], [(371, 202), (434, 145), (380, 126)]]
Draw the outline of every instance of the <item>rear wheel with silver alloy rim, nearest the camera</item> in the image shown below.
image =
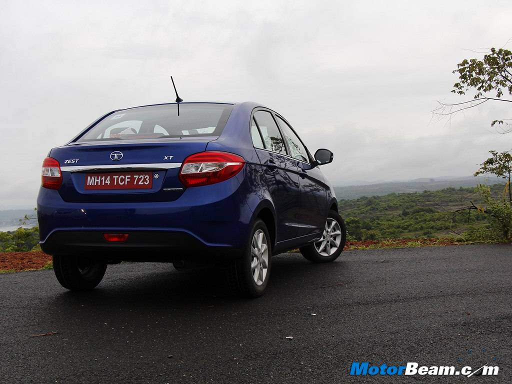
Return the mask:
[(228, 270), (231, 290), (245, 297), (259, 297), (265, 291), (272, 268), (272, 244), (267, 226), (257, 220), (241, 257)]

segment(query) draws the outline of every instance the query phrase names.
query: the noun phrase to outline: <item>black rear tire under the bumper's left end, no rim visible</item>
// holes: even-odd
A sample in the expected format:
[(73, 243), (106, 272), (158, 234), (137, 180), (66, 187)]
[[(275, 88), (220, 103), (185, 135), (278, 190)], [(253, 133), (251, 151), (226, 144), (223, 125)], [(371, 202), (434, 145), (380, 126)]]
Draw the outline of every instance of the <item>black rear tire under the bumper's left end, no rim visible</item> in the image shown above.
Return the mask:
[(54, 255), (53, 271), (62, 287), (72, 291), (87, 291), (95, 288), (103, 279), (106, 262), (88, 257)]

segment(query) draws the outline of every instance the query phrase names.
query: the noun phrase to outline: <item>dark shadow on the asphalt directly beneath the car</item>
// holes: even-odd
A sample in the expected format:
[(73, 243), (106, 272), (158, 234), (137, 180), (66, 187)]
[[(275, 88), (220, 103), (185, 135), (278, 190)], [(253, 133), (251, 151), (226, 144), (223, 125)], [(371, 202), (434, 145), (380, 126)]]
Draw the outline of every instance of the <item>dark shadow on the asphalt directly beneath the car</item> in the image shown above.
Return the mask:
[[(313, 292), (315, 288), (346, 279), (345, 264), (343, 261), (313, 264), (300, 255), (275, 257), (267, 291), (256, 301), (317, 294)], [(109, 267), (105, 281), (93, 291), (62, 291), (55, 296), (54, 304), (57, 307), (85, 303), (107, 308), (188, 308), (240, 302), (250, 303), (253, 300), (230, 291), (222, 268), (179, 272), (171, 264), (146, 266), (144, 263), (133, 263)]]

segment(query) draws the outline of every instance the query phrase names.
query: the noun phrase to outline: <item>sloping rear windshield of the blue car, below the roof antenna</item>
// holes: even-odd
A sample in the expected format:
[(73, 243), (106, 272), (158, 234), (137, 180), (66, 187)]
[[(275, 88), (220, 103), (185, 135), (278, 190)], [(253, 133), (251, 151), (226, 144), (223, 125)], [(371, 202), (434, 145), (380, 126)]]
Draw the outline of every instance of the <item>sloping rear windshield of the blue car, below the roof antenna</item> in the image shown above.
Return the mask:
[(232, 104), (181, 103), (141, 106), (105, 117), (80, 141), (220, 136)]

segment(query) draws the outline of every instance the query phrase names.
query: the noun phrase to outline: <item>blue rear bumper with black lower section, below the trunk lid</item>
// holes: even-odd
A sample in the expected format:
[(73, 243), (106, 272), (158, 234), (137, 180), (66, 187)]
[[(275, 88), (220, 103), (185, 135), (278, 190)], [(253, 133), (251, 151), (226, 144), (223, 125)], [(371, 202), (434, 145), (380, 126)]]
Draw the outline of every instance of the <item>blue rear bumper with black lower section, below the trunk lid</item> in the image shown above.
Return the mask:
[[(41, 187), (39, 244), (49, 254), (138, 252), (148, 260), (153, 254), (170, 260), (176, 254), (236, 253), (247, 244), (252, 218), (240, 187), (235, 177), (188, 188), (176, 201), (132, 203), (66, 202), (57, 190)], [(129, 237), (124, 243), (109, 243), (104, 233)]]

